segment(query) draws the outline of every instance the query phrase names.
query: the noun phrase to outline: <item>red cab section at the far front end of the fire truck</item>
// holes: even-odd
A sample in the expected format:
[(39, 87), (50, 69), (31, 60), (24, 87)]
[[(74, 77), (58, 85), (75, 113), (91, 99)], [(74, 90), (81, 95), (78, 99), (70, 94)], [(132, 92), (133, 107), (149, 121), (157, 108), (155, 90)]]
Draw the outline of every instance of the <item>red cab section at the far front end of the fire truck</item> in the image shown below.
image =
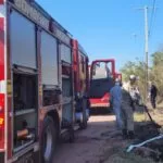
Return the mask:
[(76, 118), (80, 122), (79, 126), (86, 128), (89, 117), (89, 59), (77, 40), (73, 40), (73, 55)]

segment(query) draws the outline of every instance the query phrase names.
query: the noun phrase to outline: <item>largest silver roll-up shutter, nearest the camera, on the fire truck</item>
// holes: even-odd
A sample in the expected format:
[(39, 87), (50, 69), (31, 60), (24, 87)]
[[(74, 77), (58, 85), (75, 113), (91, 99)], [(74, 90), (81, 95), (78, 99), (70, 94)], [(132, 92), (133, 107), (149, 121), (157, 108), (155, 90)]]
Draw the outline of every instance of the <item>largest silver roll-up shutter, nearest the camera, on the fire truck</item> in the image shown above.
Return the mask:
[(35, 25), (14, 10), (10, 18), (12, 63), (36, 68)]

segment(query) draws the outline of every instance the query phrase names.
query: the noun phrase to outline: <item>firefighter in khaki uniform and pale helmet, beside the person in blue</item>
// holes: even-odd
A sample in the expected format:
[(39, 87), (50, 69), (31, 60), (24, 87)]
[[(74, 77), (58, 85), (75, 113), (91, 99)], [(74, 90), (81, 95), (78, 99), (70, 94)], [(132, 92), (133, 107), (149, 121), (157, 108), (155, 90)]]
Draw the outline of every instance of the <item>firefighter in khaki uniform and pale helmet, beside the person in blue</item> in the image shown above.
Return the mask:
[(141, 104), (141, 98), (137, 86), (137, 76), (130, 75), (128, 83), (122, 89), (122, 120), (123, 136), (133, 139), (134, 134), (134, 111), (137, 104)]

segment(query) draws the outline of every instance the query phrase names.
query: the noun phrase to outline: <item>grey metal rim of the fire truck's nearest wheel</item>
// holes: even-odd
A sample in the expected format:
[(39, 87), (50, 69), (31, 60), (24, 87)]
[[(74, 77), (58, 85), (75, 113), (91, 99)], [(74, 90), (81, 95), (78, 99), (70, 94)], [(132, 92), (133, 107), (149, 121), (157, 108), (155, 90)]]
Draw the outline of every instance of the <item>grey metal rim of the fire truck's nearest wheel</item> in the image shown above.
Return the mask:
[(43, 147), (45, 147), (43, 158), (46, 161), (48, 161), (50, 159), (51, 151), (52, 151), (52, 131), (49, 126), (45, 131)]

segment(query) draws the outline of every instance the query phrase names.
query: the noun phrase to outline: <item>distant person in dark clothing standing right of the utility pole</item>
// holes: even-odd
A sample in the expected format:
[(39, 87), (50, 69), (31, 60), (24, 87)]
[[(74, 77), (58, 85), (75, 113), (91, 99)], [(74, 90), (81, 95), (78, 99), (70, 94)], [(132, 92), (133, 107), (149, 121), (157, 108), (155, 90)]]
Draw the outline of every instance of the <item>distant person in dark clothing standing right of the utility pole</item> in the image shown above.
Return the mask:
[(153, 109), (156, 108), (156, 104), (155, 104), (156, 95), (158, 95), (158, 88), (154, 84), (152, 84), (150, 82), (149, 97), (150, 97), (151, 105), (152, 105)]

